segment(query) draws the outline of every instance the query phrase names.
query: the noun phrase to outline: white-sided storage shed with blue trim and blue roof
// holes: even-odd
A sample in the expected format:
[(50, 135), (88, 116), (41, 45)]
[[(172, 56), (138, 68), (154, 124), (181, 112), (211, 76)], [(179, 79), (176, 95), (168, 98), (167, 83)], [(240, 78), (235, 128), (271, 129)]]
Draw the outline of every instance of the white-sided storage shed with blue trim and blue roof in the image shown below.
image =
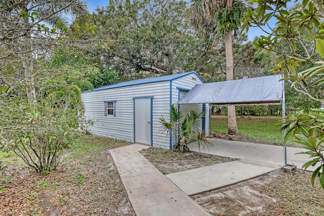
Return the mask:
[[(139, 79), (82, 92), (85, 116), (94, 121), (89, 126), (95, 135), (171, 149), (176, 138), (163, 130), (161, 115), (170, 115), (176, 104), (196, 84), (204, 81), (194, 71), (168, 76)], [(179, 105), (182, 112), (201, 112), (206, 104)], [(201, 119), (199, 129), (209, 134), (209, 118)]]

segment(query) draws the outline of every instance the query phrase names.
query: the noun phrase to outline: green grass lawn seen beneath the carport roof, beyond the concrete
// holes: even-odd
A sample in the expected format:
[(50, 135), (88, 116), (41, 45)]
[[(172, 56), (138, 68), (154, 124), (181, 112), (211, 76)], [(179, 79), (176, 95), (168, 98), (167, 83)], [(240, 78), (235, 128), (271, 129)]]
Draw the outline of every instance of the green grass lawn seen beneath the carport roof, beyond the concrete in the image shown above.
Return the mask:
[[(281, 145), (282, 134), (280, 125), (275, 125), (282, 118), (280, 116), (251, 116), (248, 118), (237, 118), (237, 128), (240, 136), (251, 142), (263, 142)], [(227, 116), (212, 116), (211, 131), (227, 133)], [(299, 146), (289, 139), (288, 145)]]

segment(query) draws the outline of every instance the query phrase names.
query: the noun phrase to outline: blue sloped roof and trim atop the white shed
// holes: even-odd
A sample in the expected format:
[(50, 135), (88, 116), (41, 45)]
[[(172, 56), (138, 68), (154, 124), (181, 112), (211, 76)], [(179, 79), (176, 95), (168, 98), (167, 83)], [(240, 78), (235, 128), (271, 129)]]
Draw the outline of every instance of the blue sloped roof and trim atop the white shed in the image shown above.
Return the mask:
[(140, 84), (148, 84), (148, 83), (154, 83), (154, 82), (164, 82), (164, 81), (172, 81), (175, 79), (179, 79), (183, 76), (187, 76), (190, 74), (196, 74), (196, 76), (201, 80), (201, 82), (205, 83), (203, 79), (200, 78), (200, 76), (195, 72), (187, 72), (187, 73), (177, 73), (173, 75), (168, 75), (168, 76), (159, 76), (159, 77), (152, 77), (152, 78), (145, 78), (145, 79), (137, 79), (133, 81), (127, 81), (127, 82), (120, 82), (117, 84), (112, 84), (112, 85), (104, 85), (103, 87), (98, 87), (94, 90), (86, 90), (83, 92), (92, 92), (92, 91), (101, 91), (101, 90), (107, 90), (107, 89), (116, 89), (116, 88), (121, 88), (121, 87), (129, 87), (132, 85), (140, 85)]

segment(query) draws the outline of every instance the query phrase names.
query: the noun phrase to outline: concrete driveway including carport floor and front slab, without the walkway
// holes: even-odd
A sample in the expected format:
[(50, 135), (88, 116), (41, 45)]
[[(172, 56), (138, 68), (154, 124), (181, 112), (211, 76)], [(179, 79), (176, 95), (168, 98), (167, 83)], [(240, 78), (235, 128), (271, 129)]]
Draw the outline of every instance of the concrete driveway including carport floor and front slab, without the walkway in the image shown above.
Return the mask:
[[(284, 148), (256, 143), (208, 139), (213, 146), (208, 148), (196, 144), (189, 145), (191, 151), (213, 154), (239, 160), (215, 164), (166, 175), (175, 185), (188, 195), (236, 184), (279, 169), (285, 165)], [(287, 147), (288, 165), (301, 168), (309, 160), (304, 149)], [(309, 167), (307, 170), (314, 170)]]

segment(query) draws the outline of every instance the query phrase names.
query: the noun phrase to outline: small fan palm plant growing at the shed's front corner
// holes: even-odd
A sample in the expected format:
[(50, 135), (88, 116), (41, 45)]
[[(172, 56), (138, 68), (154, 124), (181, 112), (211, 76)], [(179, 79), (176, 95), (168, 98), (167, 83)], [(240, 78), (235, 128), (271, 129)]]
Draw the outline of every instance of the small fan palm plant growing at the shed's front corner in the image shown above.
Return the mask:
[(206, 139), (205, 131), (200, 132), (198, 122), (205, 115), (205, 112), (197, 113), (191, 110), (186, 115), (183, 115), (179, 109), (173, 104), (170, 109), (171, 122), (167, 121), (163, 116), (160, 118), (160, 123), (163, 125), (168, 134), (172, 134), (178, 138), (177, 144), (173, 147), (174, 150), (180, 152), (189, 152), (188, 144), (197, 142), (200, 145), (212, 145)]

